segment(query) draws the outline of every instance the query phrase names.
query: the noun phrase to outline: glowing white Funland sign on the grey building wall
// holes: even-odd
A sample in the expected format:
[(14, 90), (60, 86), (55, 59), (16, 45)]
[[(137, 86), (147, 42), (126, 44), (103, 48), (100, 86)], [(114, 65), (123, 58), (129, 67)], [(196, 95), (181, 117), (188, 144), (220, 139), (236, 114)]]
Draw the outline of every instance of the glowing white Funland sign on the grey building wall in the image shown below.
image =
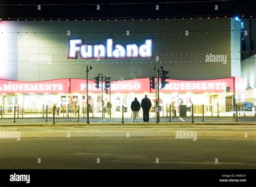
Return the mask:
[(113, 38), (106, 39), (103, 44), (84, 44), (83, 39), (69, 39), (69, 59), (77, 59), (77, 53), (82, 59), (90, 58), (151, 58), (152, 39), (145, 39), (144, 44), (115, 44)]

